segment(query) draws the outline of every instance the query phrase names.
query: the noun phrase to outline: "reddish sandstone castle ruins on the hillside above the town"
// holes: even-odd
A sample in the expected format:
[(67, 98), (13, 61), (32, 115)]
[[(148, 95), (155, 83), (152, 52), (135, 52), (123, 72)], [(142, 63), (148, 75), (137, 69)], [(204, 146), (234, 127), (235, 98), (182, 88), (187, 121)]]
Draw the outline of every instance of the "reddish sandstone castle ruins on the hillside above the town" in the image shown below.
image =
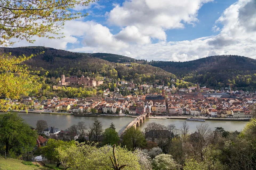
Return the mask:
[(91, 77), (82, 77), (78, 78), (77, 76), (70, 76), (70, 77), (65, 77), (64, 74), (61, 75), (61, 80), (58, 82), (58, 85), (61, 86), (99, 86), (103, 84), (103, 81), (97, 81), (94, 78)]

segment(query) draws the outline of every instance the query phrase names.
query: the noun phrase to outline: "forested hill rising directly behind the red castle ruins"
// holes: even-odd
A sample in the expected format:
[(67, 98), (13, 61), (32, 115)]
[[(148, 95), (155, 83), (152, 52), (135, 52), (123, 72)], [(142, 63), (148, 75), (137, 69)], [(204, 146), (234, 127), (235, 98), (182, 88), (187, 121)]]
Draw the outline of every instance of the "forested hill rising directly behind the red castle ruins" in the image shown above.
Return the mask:
[(175, 78), (175, 75), (151, 65), (132, 63), (131, 66), (125, 66), (122, 63), (114, 63), (100, 58), (92, 57), (87, 53), (74, 53), (65, 50), (57, 50), (42, 46), (18, 47), (18, 48), (0, 48), (0, 53), (9, 53), (12, 55), (38, 54), (45, 51), (44, 54), (37, 55), (25, 62), (31, 69), (39, 70), (42, 74), (49, 71), (48, 77), (61, 77), (84, 75), (89, 77), (101, 78), (106, 76), (113, 81), (120, 79), (133, 80), (135, 83), (155, 82), (155, 80), (165, 80), (167, 83)]

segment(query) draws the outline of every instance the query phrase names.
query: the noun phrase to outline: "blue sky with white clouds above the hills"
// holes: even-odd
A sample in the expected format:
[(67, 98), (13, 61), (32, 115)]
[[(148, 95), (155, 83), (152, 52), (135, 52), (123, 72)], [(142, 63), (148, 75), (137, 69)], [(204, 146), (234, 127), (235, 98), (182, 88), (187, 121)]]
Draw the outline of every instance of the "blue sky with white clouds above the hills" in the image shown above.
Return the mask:
[(256, 59), (256, 0), (99, 0), (75, 11), (65, 38), (33, 37), (34, 44), (73, 52), (136, 59), (190, 61), (213, 55)]

